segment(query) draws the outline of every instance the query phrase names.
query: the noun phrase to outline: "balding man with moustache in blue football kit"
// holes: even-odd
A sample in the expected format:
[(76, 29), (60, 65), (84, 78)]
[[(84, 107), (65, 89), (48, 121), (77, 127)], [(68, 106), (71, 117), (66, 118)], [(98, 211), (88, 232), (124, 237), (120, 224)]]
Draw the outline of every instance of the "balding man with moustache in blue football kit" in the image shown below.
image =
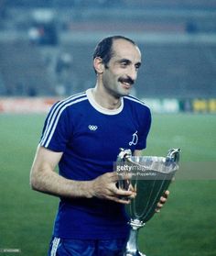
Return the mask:
[(150, 111), (129, 95), (140, 65), (134, 41), (103, 39), (93, 54), (95, 87), (49, 112), (30, 177), (33, 189), (60, 197), (49, 255), (122, 255), (129, 232), (124, 205), (135, 191), (117, 188), (113, 162), (119, 148), (134, 155), (146, 148)]

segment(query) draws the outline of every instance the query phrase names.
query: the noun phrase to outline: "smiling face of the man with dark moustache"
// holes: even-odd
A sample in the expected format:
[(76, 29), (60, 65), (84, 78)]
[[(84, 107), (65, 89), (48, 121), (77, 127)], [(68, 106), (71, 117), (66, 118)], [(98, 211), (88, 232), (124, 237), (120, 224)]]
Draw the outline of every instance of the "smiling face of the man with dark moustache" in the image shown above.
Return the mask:
[(113, 96), (129, 95), (141, 65), (140, 50), (124, 39), (113, 41), (113, 57), (103, 71), (103, 86)]

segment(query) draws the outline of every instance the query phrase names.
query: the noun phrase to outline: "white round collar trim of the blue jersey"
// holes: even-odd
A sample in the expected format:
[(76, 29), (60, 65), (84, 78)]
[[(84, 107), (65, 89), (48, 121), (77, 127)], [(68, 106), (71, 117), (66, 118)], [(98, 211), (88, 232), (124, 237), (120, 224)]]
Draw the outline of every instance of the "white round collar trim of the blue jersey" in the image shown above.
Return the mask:
[(93, 95), (92, 95), (92, 88), (86, 90), (86, 95), (87, 95), (87, 98), (88, 98), (90, 104), (93, 106), (93, 108), (95, 108), (98, 112), (100, 112), (104, 115), (117, 115), (123, 110), (123, 107), (124, 107), (123, 98), (121, 98), (121, 106), (119, 106), (116, 109), (107, 109), (107, 108), (104, 108), (103, 106), (99, 105), (94, 100)]

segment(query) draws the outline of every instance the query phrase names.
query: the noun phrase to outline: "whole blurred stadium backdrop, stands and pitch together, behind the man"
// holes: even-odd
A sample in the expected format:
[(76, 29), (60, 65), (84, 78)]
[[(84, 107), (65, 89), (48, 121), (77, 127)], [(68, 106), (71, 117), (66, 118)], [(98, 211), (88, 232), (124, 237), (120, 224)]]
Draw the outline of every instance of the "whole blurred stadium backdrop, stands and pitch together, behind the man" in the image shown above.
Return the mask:
[[(179, 147), (182, 161), (215, 162), (215, 0), (0, 0), (0, 254), (46, 255), (58, 199), (28, 185), (45, 113), (94, 86), (95, 44), (114, 34), (143, 52), (133, 94), (153, 110), (146, 153)], [(177, 179), (171, 190), (140, 247), (215, 256), (215, 180)]]

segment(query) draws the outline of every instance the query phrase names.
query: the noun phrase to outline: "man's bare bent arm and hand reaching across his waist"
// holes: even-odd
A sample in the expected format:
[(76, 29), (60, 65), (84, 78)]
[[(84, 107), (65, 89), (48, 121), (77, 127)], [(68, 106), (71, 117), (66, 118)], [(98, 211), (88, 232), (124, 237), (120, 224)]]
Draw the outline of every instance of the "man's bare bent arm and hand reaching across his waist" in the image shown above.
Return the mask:
[(129, 200), (121, 199), (122, 196), (135, 196), (133, 191), (123, 191), (117, 188), (118, 175), (114, 172), (104, 173), (92, 181), (73, 181), (60, 176), (54, 170), (61, 157), (62, 152), (38, 147), (30, 173), (32, 189), (59, 197), (98, 197), (121, 204), (129, 203)]

